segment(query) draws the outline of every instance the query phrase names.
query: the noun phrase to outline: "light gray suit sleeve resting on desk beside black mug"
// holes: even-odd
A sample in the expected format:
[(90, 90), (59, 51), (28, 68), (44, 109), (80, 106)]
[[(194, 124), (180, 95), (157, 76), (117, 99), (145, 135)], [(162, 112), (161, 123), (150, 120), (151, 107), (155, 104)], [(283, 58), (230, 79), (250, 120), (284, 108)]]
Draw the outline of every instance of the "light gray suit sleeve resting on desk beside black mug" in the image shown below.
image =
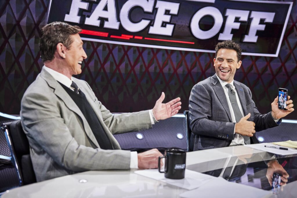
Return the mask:
[(103, 150), (79, 145), (61, 114), (53, 95), (29, 93), (23, 97), (22, 126), (30, 145), (34, 146), (35, 153), (47, 154), (59, 166), (75, 172), (129, 169), (130, 151)]

